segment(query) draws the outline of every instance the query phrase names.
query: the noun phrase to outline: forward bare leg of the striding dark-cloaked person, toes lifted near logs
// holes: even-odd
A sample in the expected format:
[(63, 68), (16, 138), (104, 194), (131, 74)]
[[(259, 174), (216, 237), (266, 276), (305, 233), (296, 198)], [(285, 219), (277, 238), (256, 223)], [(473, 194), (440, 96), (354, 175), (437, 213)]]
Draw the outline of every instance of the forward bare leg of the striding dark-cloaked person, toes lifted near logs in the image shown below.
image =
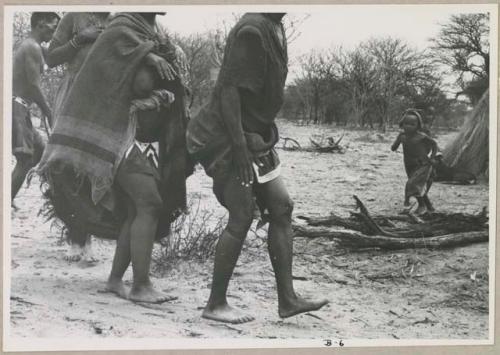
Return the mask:
[(264, 199), (269, 212), (268, 248), (278, 289), (278, 313), (287, 318), (315, 311), (328, 303), (327, 300), (306, 301), (295, 294), (292, 281), (293, 202), (281, 177), (259, 186), (259, 196)]

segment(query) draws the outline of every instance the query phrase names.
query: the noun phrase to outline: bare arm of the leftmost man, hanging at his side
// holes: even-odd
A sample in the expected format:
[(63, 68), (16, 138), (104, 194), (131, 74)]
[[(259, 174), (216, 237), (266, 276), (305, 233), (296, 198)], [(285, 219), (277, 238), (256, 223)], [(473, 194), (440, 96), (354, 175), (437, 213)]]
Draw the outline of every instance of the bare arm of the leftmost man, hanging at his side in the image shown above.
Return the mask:
[(52, 112), (45, 101), (40, 87), (40, 68), (43, 65), (41, 48), (35, 45), (26, 48), (24, 64), (27, 80), (26, 88), (28, 89), (29, 96), (40, 107), (42, 113), (47, 117), (50, 127), (52, 127)]

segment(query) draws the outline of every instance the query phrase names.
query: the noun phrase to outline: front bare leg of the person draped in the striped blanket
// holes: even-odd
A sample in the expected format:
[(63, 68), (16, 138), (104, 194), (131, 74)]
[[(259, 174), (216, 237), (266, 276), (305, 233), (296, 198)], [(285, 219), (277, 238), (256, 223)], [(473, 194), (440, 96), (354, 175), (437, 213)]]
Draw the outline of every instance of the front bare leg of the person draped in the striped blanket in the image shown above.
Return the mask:
[[(130, 223), (130, 260), (134, 282), (129, 294), (129, 299), (139, 302), (164, 302), (172, 299), (163, 292), (153, 288), (149, 278), (151, 253), (158, 218), (162, 208), (162, 201), (153, 176), (139, 173), (118, 173), (117, 181), (128, 197), (133, 201), (135, 216)], [(124, 234), (126, 235), (126, 234)], [(124, 237), (124, 241), (125, 241)], [(118, 245), (117, 245), (118, 246)], [(118, 248), (117, 248), (118, 251)], [(123, 255), (121, 255), (124, 253)], [(126, 245), (120, 249), (122, 260), (117, 260), (116, 274), (112, 272), (113, 279), (120, 276), (127, 260)], [(127, 264), (128, 265), (128, 264)], [(125, 268), (126, 270), (126, 268)], [(123, 274), (122, 274), (123, 275)]]

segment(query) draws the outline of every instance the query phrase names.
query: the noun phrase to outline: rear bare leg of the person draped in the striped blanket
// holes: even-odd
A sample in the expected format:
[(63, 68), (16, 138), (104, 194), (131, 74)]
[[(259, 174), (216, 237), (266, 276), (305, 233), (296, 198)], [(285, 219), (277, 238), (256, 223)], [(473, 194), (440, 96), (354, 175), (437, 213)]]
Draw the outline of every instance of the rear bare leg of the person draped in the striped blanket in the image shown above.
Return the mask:
[(123, 284), (123, 275), (130, 265), (130, 226), (135, 218), (132, 201), (127, 203), (127, 220), (123, 223), (120, 235), (116, 241), (116, 251), (113, 266), (106, 284), (106, 290), (116, 293), (119, 297), (128, 298), (128, 291)]

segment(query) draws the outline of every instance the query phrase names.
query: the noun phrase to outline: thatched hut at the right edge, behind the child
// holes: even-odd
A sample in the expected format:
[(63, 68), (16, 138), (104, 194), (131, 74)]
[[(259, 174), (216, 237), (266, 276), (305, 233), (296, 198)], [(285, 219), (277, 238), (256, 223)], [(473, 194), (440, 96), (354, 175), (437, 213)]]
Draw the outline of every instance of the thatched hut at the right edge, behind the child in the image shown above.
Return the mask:
[(477, 103), (457, 137), (444, 149), (443, 161), (453, 170), (478, 177), (488, 169), (489, 90)]

